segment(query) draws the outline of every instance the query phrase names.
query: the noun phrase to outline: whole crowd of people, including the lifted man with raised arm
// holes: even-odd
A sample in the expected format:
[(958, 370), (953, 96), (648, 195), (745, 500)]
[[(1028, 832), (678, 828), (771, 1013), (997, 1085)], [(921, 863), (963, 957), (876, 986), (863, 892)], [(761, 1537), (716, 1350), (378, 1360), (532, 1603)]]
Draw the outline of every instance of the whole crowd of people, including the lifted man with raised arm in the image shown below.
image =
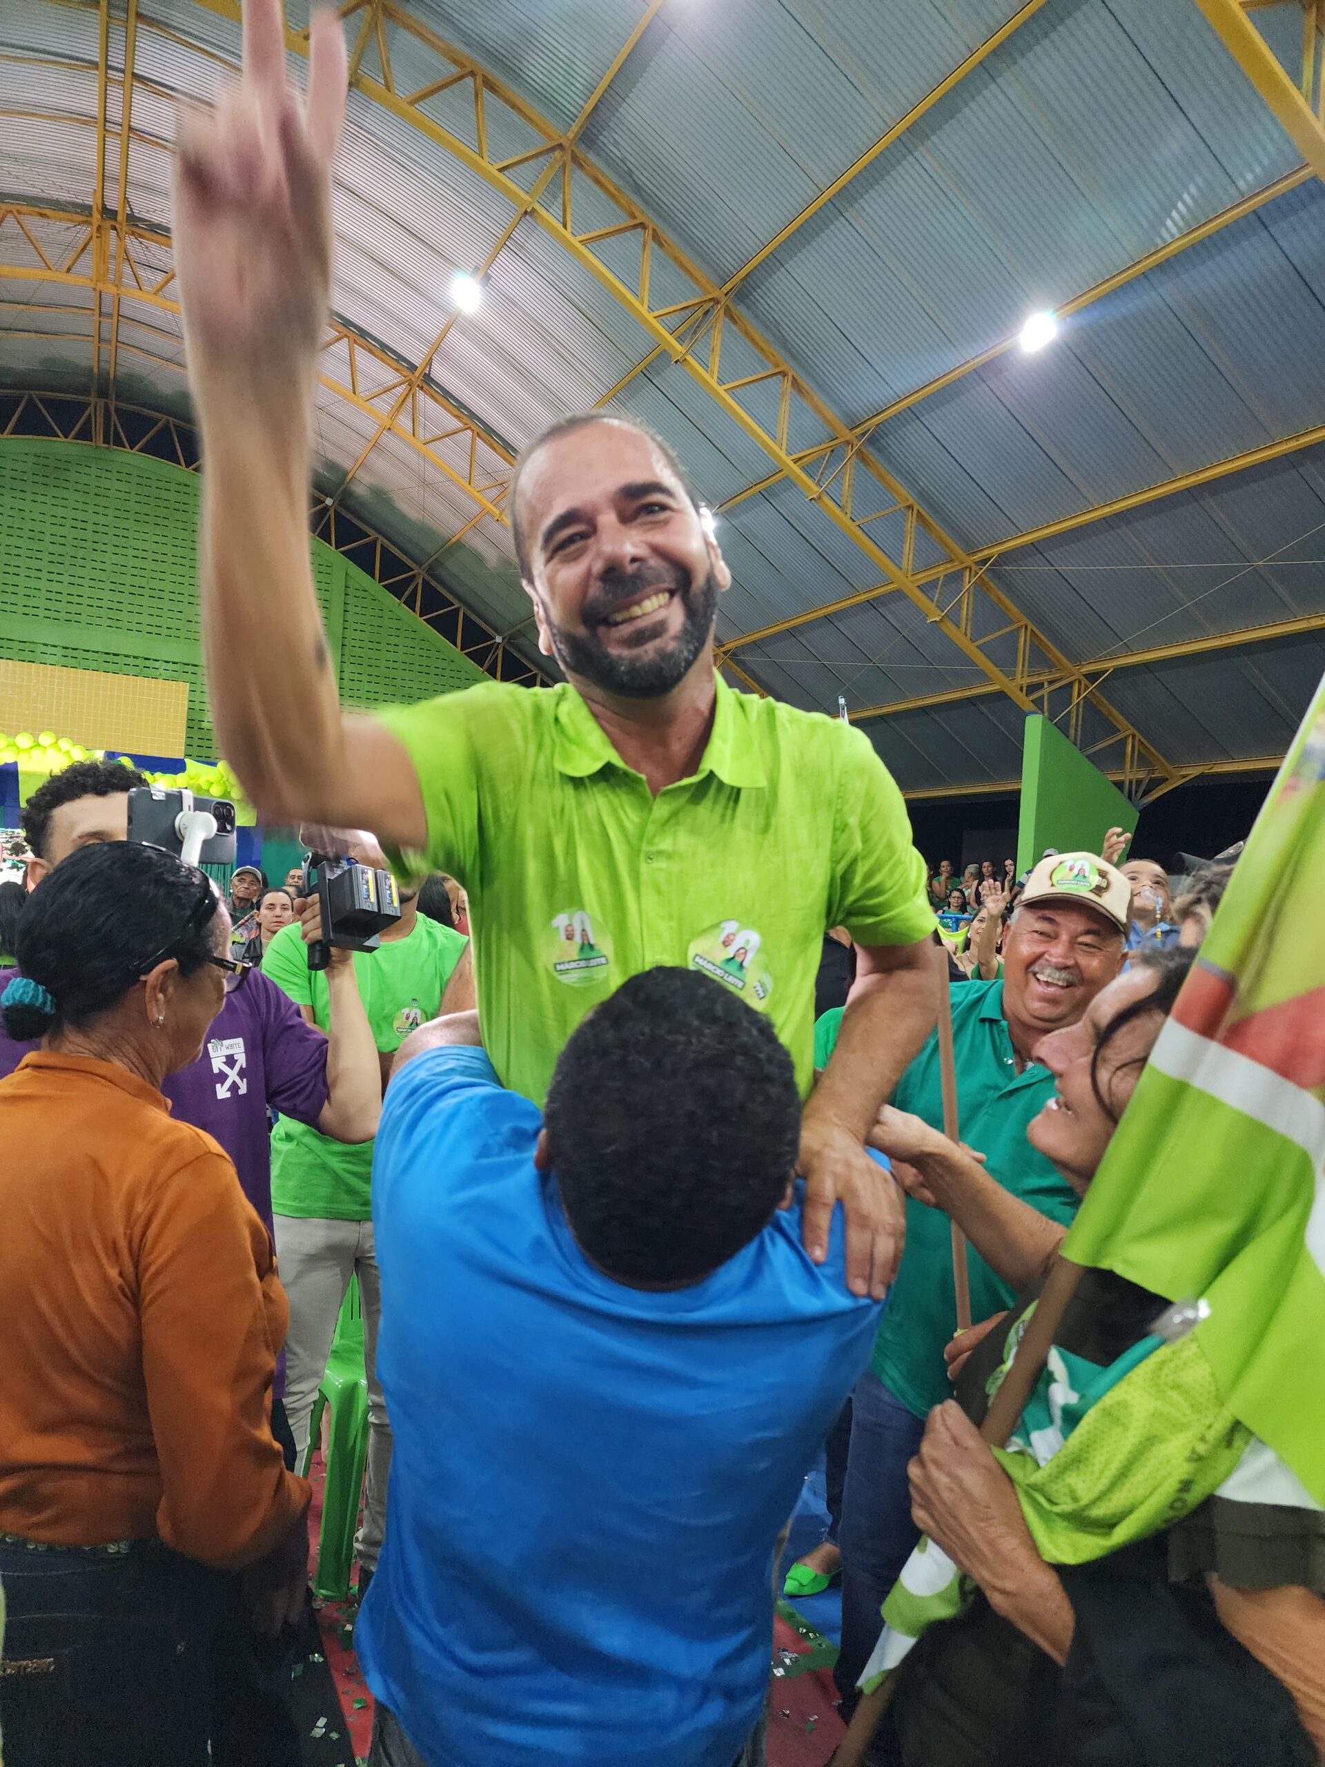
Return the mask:
[[(260, 815), (390, 855), (401, 915), (318, 968), (306, 873), (242, 866), (224, 898), (127, 839), (129, 769), (78, 763), (23, 808), (11, 1767), (299, 1763), (309, 1412), (352, 1281), (371, 1767), (761, 1767), (774, 1578), (825, 1444), (830, 1537), (786, 1587), (841, 1574), (843, 1714), (922, 1534), (979, 1589), (906, 1659), (871, 1760), (1318, 1760), (1325, 1514), (1265, 1442), (1214, 1407), (1224, 1483), (1192, 1474), (1145, 1560), (1092, 1578), (1041, 1551), (977, 1435), (1228, 868), (1175, 903), (1108, 830), (1021, 876), (931, 871), (860, 730), (716, 673), (712, 521), (671, 449), (602, 412), (539, 436), (505, 505), (565, 680), (344, 712), (300, 419), (344, 41), (314, 14), (300, 101), (279, 0), (247, 0), (244, 35), (175, 193), (208, 703)], [(1049, 1465), (1071, 1371), (1122, 1380), (1162, 1306), (1079, 1292), (1076, 1361), (1018, 1422)], [(1115, 1449), (1132, 1481), (1182, 1422), (1161, 1405)]]

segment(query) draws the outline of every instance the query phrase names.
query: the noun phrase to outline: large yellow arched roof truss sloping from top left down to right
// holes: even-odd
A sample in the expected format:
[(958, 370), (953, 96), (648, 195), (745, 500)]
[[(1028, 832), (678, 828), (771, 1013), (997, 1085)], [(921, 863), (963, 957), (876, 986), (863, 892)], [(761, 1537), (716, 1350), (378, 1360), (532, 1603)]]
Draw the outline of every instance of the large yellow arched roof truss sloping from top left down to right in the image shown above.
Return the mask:
[[(238, 21), (237, 0), (196, 0), (196, 4), (223, 18)], [(968, 555), (867, 451), (853, 451), (853, 458), (836, 479), (832, 495), (829, 495), (829, 488), (816, 484), (797, 465), (788, 452), (793, 424), (818, 428), (823, 435), (836, 438), (844, 449), (852, 447), (853, 435), (843, 419), (793, 373), (756, 327), (735, 306), (723, 307), (719, 290), (657, 228), (652, 217), (587, 159), (576, 143), (569, 141), (565, 134), (556, 131), (526, 101), (496, 81), (465, 51), (445, 42), (419, 19), (412, 18), (396, 0), (382, 0), (382, 16), (392, 28), (406, 32), (415, 39), (415, 51), (428, 51), (436, 57), (438, 78), (413, 94), (401, 94), (394, 88), (389, 67), (382, 69), (383, 78), (378, 81), (369, 78), (360, 65), (352, 81), (353, 88), (458, 159), (475, 177), (481, 177), (496, 189), (514, 210), (525, 205), (528, 191), (514, 182), (511, 173), (521, 166), (535, 166), (539, 163), (546, 168), (546, 161), (555, 159), (560, 168), (560, 214), (553, 214), (544, 203), (537, 203), (528, 210), (532, 219), (537, 221), (549, 239), (571, 253), (613, 295), (622, 309), (655, 343), (662, 345), (673, 360), (680, 362), (712, 401), (763, 449), (774, 466), (783, 470), (809, 500), (816, 502), (823, 514), (871, 558), (890, 583), (924, 611), (931, 624), (940, 627), (988, 680), (998, 686), (1023, 710), (1039, 710), (1041, 707), (1037, 707), (1021, 682), (1025, 671), (1048, 664), (1071, 675), (1072, 664), (1002, 592), (982, 581), (979, 571), (970, 569)], [(286, 46), (299, 55), (307, 55), (307, 41), (299, 32), (286, 34)], [(470, 147), (468, 141), (442, 127), (442, 124), (420, 110), (420, 94), (435, 94), (442, 87), (468, 87), (473, 101), (473, 140), (477, 147)], [(541, 145), (505, 161), (495, 159), (488, 147), (484, 120), (484, 108), (495, 104), (504, 104), (514, 115), (521, 117), (541, 138)], [(572, 217), (572, 171), (594, 184), (599, 194), (617, 209), (620, 214), (618, 223), (583, 231), (576, 228)], [(548, 193), (551, 193), (551, 184)], [(625, 235), (640, 239), (640, 274), (634, 279), (634, 288), (610, 270), (594, 251), (594, 246), (601, 240)], [(694, 299), (666, 304), (650, 300), (650, 265), (655, 254), (666, 256), (673, 272), (694, 288)], [(707, 318), (693, 327), (685, 341), (678, 339), (677, 329), (700, 307), (708, 309)], [(733, 336), (740, 337), (746, 350), (754, 352), (754, 357), (765, 364), (761, 369), (753, 375), (738, 373), (724, 378), (723, 346)], [(703, 348), (705, 360), (701, 360), (703, 345), (707, 345)], [(744, 403), (754, 389), (760, 389), (760, 398), (768, 389), (776, 391), (777, 417), (772, 428), (767, 428), (754, 415), (751, 403)], [(860, 468), (859, 474), (857, 466)], [(864, 482), (866, 479), (869, 484)], [(857, 481), (860, 481), (859, 489)], [(906, 535), (901, 548), (901, 560), (892, 558), (873, 534), (867, 532), (871, 521), (896, 512), (903, 516)], [(928, 535), (929, 544), (942, 557), (950, 560), (952, 569), (963, 573), (963, 588), (950, 606), (943, 606), (940, 597), (928, 595), (924, 587), (915, 581), (913, 548), (915, 537), (920, 532)], [(998, 641), (1002, 641), (1003, 654), (1016, 657), (1012, 671), (1002, 668), (988, 648)], [(1131, 788), (1141, 790), (1155, 776), (1175, 776), (1170, 762), (1102, 694), (1094, 691), (1083, 677), (1074, 679), (1072, 693), (1088, 700), (1111, 726), (1113, 735), (1109, 740), (1122, 744), (1124, 769)]]

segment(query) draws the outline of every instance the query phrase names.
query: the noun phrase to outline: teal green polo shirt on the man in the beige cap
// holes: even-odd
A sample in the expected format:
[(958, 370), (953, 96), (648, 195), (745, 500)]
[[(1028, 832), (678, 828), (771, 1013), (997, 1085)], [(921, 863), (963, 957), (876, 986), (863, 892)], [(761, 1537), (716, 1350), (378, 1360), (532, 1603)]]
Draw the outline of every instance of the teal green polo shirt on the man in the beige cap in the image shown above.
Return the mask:
[[(986, 1156), (984, 1170), (1005, 1191), (1039, 1209), (1051, 1221), (1067, 1225), (1081, 1198), (1026, 1141), (1026, 1124), (1053, 1097), (1053, 1074), (1037, 1062), (1018, 1073), (1012, 1039), (1003, 1018), (1003, 982), (952, 984), (952, 1046), (958, 1067), (958, 1119), (961, 1140)], [(827, 1062), (837, 1037), (841, 1011), (825, 1012), (814, 1027), (816, 1066)], [(943, 1127), (943, 1096), (938, 1080), (938, 1032), (935, 1032), (892, 1096), (897, 1110)], [(972, 1248), (970, 1316), (975, 1323), (1012, 1304), (1012, 1290)], [(906, 1198), (906, 1249), (897, 1281), (874, 1339), (873, 1371), (917, 1417), (952, 1398), (943, 1362), (943, 1345), (958, 1329), (958, 1297), (952, 1286), (952, 1235), (949, 1217)]]

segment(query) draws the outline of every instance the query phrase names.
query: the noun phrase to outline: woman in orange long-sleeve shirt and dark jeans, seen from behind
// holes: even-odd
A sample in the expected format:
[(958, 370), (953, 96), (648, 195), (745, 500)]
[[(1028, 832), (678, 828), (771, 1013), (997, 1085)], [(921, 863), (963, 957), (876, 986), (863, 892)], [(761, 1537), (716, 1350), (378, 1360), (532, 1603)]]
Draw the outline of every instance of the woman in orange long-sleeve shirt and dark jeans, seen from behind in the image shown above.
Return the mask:
[(270, 1431), (288, 1308), (217, 1143), (173, 1122), (238, 970), (212, 882), (72, 853), (19, 917), (0, 1081), (0, 1578), (9, 1767), (208, 1758), (208, 1629), (302, 1604), (307, 1484)]

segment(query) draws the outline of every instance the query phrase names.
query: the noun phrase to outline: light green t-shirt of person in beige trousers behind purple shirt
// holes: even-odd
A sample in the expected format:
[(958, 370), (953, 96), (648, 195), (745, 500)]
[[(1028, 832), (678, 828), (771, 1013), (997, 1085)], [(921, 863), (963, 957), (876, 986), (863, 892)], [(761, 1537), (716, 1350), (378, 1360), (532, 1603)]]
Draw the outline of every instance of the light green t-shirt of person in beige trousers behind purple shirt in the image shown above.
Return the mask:
[[(410, 1032), (436, 1018), (442, 990), (459, 963), (465, 938), (420, 914), (405, 938), (389, 938), (376, 951), (353, 954), (359, 998), (364, 1002), (373, 1043), (390, 1053)], [(295, 1005), (311, 1005), (313, 1021), (330, 1028), (327, 975), (309, 970), (299, 924), (283, 926), (261, 959)], [(272, 1129), (272, 1210), (322, 1221), (367, 1221), (371, 1205), (373, 1143), (350, 1145), (318, 1134), (293, 1117)]]

